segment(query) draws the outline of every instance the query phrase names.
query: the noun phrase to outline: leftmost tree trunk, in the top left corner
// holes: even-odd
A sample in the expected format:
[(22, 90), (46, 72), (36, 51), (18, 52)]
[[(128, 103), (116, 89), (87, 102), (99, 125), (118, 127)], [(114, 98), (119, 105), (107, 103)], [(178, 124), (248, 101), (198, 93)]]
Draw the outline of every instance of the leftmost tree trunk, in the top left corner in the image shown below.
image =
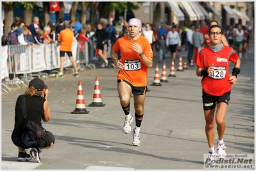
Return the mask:
[(4, 40), (8, 37), (11, 31), (11, 26), (13, 23), (13, 6), (14, 4), (2, 3), (4, 8)]

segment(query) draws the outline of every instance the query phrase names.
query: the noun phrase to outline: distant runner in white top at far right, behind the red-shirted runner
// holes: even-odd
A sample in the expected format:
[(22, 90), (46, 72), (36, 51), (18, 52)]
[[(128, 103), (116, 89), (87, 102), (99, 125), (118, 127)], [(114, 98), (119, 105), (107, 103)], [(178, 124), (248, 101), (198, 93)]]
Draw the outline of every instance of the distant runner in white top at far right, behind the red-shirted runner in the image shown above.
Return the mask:
[(240, 59), (243, 56), (243, 38), (244, 38), (244, 31), (242, 29), (241, 24), (237, 26), (237, 29), (234, 31), (235, 37), (235, 47), (237, 48), (237, 54)]

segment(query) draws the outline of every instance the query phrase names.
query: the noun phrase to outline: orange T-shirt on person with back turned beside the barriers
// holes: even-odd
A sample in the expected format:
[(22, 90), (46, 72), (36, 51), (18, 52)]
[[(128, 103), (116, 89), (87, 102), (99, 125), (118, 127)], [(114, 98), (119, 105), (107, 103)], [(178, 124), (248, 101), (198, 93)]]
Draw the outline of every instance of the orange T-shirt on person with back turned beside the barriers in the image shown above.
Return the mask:
[(74, 32), (71, 29), (63, 29), (58, 35), (58, 40), (60, 40), (60, 51), (71, 52), (72, 42), (74, 38)]

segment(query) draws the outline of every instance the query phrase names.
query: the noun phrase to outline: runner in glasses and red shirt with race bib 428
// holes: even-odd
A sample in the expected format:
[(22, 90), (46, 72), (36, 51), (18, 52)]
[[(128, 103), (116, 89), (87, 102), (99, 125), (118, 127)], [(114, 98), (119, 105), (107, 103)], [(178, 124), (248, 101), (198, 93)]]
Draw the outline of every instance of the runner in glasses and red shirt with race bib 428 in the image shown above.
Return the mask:
[[(196, 75), (201, 76), (203, 87), (203, 110), (205, 114), (205, 133), (209, 144), (209, 161), (225, 158), (225, 144), (223, 136), (226, 128), (225, 115), (230, 100), (232, 84), (237, 83), (237, 74), (240, 72), (240, 63), (237, 53), (232, 47), (223, 45), (222, 28), (218, 25), (210, 26), (210, 45), (198, 53)], [(230, 61), (235, 63), (232, 76), (228, 73)], [(217, 107), (217, 108), (216, 108)], [(218, 130), (217, 150), (214, 149), (214, 113)]]

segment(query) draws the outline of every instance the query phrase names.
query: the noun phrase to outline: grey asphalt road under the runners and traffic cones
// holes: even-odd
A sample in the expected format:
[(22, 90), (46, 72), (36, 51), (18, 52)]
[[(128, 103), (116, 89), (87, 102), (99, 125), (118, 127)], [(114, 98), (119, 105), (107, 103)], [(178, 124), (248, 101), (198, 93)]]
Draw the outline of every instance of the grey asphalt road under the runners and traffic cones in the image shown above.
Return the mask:
[[(232, 87), (226, 113), (225, 145), (228, 154), (254, 154), (255, 147), (255, 52), (254, 44), (248, 58), (242, 61), (237, 85)], [(187, 53), (182, 55), (187, 61)], [(166, 72), (171, 67), (170, 54), (166, 54)], [(49, 88), (51, 120), (43, 126), (55, 134), (51, 149), (42, 152), (41, 163), (18, 162), (17, 147), (11, 134), (14, 126), (15, 101), (26, 90), (14, 88), (1, 95), (1, 169), (2, 170), (201, 170), (203, 154), (208, 145), (205, 136), (205, 119), (201, 102), (201, 78), (196, 67), (176, 71), (176, 77), (167, 77), (169, 83), (151, 86), (156, 65), (160, 77), (162, 63), (158, 53), (148, 72), (145, 113), (141, 126), (141, 146), (133, 147), (132, 133), (124, 134), (124, 113), (117, 95), (117, 69), (96, 69), (80, 72), (73, 77), (44, 79)], [(230, 73), (233, 64), (230, 64)], [(99, 78), (101, 100), (105, 106), (90, 107), (93, 102), (96, 76)], [(81, 81), (88, 114), (71, 114), (76, 108), (78, 81)], [(28, 85), (28, 83), (26, 83)], [(134, 114), (133, 98), (131, 111)], [(132, 127), (135, 126), (133, 121)], [(215, 127), (216, 129), (216, 127)], [(217, 140), (217, 133), (216, 138)], [(215, 142), (216, 144), (216, 142)]]

